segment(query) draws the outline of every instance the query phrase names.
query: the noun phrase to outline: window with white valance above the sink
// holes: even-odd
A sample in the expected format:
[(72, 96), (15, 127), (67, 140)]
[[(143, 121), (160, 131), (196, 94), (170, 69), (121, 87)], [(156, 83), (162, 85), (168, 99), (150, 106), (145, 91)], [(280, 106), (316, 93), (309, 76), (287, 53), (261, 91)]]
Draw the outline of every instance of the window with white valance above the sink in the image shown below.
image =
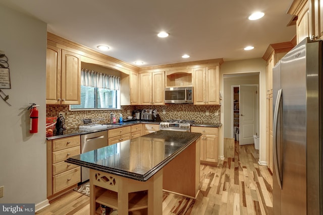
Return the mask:
[(120, 108), (119, 88), (119, 77), (82, 69), (81, 104), (70, 105), (70, 109), (76, 110)]

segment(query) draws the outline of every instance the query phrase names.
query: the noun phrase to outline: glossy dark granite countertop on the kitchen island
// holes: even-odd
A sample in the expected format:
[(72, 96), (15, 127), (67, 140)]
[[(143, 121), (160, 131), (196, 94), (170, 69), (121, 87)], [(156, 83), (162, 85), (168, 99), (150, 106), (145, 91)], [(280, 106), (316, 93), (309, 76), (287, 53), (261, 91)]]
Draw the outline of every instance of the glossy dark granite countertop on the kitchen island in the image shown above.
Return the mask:
[(200, 135), (200, 133), (159, 130), (68, 158), (65, 162), (138, 181), (147, 181)]

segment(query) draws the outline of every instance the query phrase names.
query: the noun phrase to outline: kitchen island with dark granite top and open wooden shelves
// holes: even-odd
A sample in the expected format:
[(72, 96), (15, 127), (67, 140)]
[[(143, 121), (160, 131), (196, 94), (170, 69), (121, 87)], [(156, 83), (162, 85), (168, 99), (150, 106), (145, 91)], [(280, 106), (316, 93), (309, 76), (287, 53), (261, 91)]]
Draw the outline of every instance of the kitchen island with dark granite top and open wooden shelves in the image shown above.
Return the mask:
[(200, 133), (160, 130), (71, 157), (90, 168), (90, 212), (162, 214), (163, 189), (196, 197)]

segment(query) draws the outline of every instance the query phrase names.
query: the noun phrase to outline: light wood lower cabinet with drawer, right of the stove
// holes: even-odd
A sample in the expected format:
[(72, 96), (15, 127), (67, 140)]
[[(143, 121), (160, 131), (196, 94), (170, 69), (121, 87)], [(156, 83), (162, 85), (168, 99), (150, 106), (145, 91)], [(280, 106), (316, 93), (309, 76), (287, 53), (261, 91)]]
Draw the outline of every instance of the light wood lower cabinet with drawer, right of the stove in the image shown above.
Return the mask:
[(191, 132), (201, 133), (200, 162), (208, 165), (219, 163), (219, 128), (192, 126)]

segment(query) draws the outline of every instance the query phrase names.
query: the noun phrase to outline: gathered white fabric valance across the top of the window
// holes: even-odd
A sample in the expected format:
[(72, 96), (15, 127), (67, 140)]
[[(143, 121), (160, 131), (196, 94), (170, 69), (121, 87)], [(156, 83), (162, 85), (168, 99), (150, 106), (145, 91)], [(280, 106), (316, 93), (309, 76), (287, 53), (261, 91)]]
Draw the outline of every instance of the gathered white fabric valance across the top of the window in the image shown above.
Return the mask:
[(98, 73), (93, 70), (81, 70), (81, 85), (86, 87), (97, 87), (109, 90), (120, 89), (120, 77)]

